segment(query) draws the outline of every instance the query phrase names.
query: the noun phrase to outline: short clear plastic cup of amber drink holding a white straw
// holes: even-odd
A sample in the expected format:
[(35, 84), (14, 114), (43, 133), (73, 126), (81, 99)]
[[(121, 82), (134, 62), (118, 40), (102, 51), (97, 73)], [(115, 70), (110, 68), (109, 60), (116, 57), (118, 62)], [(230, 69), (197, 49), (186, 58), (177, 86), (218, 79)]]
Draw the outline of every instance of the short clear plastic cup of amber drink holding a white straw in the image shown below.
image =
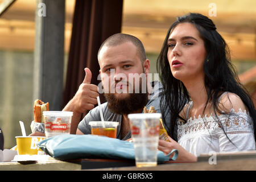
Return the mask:
[(89, 122), (92, 135), (106, 136), (117, 138), (117, 126), (119, 122), (114, 121), (90, 121)]

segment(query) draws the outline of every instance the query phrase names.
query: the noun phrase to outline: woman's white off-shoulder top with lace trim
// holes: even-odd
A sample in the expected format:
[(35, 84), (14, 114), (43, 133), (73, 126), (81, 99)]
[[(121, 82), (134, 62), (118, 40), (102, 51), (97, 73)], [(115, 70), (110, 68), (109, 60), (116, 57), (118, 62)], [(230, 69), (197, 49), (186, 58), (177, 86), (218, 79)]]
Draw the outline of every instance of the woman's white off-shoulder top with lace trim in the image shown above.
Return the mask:
[[(255, 150), (254, 126), (250, 115), (241, 109), (231, 115), (214, 115), (189, 118), (178, 122), (178, 143), (193, 155), (209, 152), (233, 152)], [(223, 128), (221, 128), (221, 125)], [(223, 129), (225, 130), (226, 137)]]

